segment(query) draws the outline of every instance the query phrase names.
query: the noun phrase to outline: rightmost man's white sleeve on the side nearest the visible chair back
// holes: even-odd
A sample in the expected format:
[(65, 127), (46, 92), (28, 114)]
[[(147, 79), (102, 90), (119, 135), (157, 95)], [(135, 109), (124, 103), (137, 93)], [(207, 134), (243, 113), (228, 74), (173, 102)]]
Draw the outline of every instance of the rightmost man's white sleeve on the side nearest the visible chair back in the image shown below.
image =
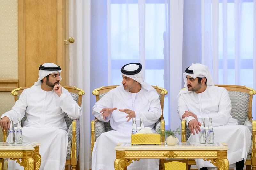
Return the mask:
[(202, 113), (197, 115), (198, 119), (205, 118), (205, 121), (209, 121), (212, 118), (213, 126), (222, 126), (228, 123), (231, 113), (231, 100), (226, 89), (223, 90), (219, 102), (218, 112), (216, 113)]

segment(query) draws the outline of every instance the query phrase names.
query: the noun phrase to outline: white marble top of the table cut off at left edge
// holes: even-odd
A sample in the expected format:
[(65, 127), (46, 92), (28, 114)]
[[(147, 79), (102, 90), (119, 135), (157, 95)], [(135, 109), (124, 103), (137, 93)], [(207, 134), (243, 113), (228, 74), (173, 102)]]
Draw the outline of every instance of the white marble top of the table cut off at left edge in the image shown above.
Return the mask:
[(34, 147), (42, 145), (39, 142), (23, 142), (22, 144), (9, 144), (8, 142), (0, 142), (0, 150), (34, 150)]

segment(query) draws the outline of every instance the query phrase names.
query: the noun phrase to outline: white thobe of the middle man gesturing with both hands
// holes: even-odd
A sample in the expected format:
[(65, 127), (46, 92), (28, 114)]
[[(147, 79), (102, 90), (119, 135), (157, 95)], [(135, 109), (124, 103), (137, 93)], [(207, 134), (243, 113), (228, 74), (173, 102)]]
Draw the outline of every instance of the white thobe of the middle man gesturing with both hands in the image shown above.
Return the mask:
[[(132, 119), (126, 122), (128, 114), (120, 112), (118, 109), (130, 109), (135, 111), (136, 124), (140, 123), (140, 118), (144, 120), (145, 127), (154, 128), (154, 124), (162, 115), (159, 96), (156, 92), (147, 91), (141, 88), (140, 92), (130, 93), (125, 91), (123, 86), (118, 86), (105, 94), (92, 108), (92, 114), (100, 121), (108, 122), (113, 130), (102, 133), (96, 140), (92, 152), (92, 170), (114, 170), (114, 161), (116, 159), (116, 151), (114, 147), (119, 142), (131, 142)], [(113, 113), (105, 117), (101, 116), (102, 108), (117, 107)], [(154, 130), (153, 130), (154, 131)], [(133, 161), (128, 169), (147, 169), (158, 170), (159, 159), (140, 159)]]

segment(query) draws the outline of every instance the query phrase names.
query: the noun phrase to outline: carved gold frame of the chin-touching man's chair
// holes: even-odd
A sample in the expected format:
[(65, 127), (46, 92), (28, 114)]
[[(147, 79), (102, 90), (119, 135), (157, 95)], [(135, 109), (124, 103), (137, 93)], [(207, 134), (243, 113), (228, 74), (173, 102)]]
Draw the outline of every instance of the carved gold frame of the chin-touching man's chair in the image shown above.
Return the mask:
[[(70, 86), (63, 86), (66, 90), (72, 93), (78, 94), (78, 105), (81, 107), (82, 104), (82, 97), (85, 94), (84, 90), (77, 88), (77, 87), (70, 87)], [(11, 94), (14, 96), (15, 102), (18, 100), (18, 95), (23, 92), (24, 89), (29, 87), (20, 87), (17, 89), (12, 90)], [(72, 121), (72, 140), (71, 140), (71, 156), (70, 159), (66, 159), (66, 165), (70, 165), (71, 169), (78, 169), (79, 170), (79, 141), (76, 140), (76, 136), (80, 136), (80, 130), (77, 131), (77, 129), (80, 129), (80, 123), (77, 124), (77, 119)], [(3, 141), (6, 141), (7, 138), (7, 132), (4, 130), (3, 132), (4, 138)], [(78, 137), (79, 139), (79, 137)], [(77, 145), (78, 144), (78, 145)], [(78, 153), (78, 154), (77, 154)]]

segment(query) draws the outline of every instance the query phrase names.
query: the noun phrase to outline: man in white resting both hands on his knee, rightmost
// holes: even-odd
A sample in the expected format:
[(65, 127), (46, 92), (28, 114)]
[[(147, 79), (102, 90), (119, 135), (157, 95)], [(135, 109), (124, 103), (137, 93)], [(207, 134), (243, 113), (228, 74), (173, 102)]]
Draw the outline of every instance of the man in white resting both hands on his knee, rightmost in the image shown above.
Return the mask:
[[(191, 135), (189, 142), (199, 142), (201, 118), (208, 127), (212, 118), (215, 142), (228, 144), (229, 164), (236, 163), (236, 170), (242, 170), (251, 144), (251, 132), (230, 115), (231, 101), (228, 91), (214, 86), (209, 68), (203, 64), (192, 64), (183, 73), (185, 90), (178, 95), (178, 114), (185, 119)], [(195, 159), (201, 170), (215, 167), (209, 161)], [(235, 165), (234, 165), (235, 166)]]

